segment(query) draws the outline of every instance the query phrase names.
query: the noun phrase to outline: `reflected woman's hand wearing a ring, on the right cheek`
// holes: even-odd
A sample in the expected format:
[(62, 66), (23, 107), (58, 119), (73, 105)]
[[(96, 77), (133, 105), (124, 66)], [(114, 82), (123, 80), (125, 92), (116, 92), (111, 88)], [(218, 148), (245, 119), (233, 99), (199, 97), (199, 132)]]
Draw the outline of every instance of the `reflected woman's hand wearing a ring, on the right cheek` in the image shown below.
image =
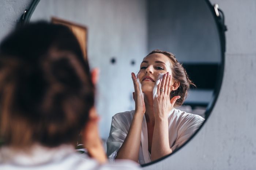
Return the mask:
[(154, 116), (155, 118), (167, 119), (175, 102), (180, 96), (174, 96), (170, 99), (172, 87), (172, 75), (167, 72), (163, 75), (160, 83), (157, 85), (157, 96), (154, 98)]

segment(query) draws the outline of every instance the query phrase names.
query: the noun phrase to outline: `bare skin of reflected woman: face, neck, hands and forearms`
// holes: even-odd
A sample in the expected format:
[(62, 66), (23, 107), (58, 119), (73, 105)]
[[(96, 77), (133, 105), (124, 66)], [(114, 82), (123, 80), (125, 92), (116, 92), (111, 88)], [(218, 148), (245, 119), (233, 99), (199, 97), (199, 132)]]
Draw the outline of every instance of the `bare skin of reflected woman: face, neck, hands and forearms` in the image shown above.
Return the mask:
[[(131, 159), (138, 162), (140, 134), (143, 116), (146, 117), (148, 131), (148, 151), (152, 161), (172, 153), (169, 146), (168, 114), (180, 96), (170, 99), (170, 92), (176, 90), (180, 83), (172, 79), (172, 64), (163, 54), (148, 55), (140, 65), (137, 75), (144, 95), (139, 95), (139, 84), (132, 73), (134, 85), (133, 98), (135, 100), (135, 114), (123, 145), (120, 147), (116, 159)], [(153, 99), (153, 88), (158, 75), (163, 73), (163, 79), (157, 86), (157, 97)], [(150, 79), (145, 79), (149, 76)], [(148, 78), (149, 78), (148, 77)], [(160, 89), (164, 91), (161, 92)], [(132, 148), (132, 149), (131, 149)]]

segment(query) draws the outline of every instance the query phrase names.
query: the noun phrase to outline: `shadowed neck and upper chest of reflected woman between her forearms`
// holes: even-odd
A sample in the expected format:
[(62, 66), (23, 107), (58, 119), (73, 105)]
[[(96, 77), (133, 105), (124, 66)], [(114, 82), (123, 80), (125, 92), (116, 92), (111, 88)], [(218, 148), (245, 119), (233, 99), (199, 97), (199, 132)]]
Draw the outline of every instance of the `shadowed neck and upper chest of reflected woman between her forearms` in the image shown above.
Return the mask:
[(144, 102), (145, 102), (145, 118), (147, 123), (152, 125), (155, 124), (155, 116), (153, 110), (153, 93), (152, 92), (144, 92)]

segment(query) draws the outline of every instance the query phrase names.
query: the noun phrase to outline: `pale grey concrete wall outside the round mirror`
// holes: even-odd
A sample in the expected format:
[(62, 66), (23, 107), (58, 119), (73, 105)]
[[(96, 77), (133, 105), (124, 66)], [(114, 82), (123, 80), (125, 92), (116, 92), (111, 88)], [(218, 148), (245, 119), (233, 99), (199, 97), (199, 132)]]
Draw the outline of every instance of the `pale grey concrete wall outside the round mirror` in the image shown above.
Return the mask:
[[(31, 0), (0, 2), (0, 39)], [(202, 130), (180, 151), (148, 170), (250, 170), (256, 167), (256, 1), (211, 0), (225, 12), (225, 74)]]

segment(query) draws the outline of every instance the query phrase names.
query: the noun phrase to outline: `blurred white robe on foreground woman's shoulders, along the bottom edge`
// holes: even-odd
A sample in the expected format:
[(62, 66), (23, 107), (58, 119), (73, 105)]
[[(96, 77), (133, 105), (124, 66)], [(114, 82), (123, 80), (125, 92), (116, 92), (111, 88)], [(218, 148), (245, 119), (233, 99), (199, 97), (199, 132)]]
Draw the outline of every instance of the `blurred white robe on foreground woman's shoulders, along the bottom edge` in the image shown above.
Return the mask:
[(138, 163), (129, 160), (99, 164), (86, 154), (78, 154), (72, 145), (46, 148), (41, 145), (29, 151), (0, 147), (1, 170), (139, 170)]

